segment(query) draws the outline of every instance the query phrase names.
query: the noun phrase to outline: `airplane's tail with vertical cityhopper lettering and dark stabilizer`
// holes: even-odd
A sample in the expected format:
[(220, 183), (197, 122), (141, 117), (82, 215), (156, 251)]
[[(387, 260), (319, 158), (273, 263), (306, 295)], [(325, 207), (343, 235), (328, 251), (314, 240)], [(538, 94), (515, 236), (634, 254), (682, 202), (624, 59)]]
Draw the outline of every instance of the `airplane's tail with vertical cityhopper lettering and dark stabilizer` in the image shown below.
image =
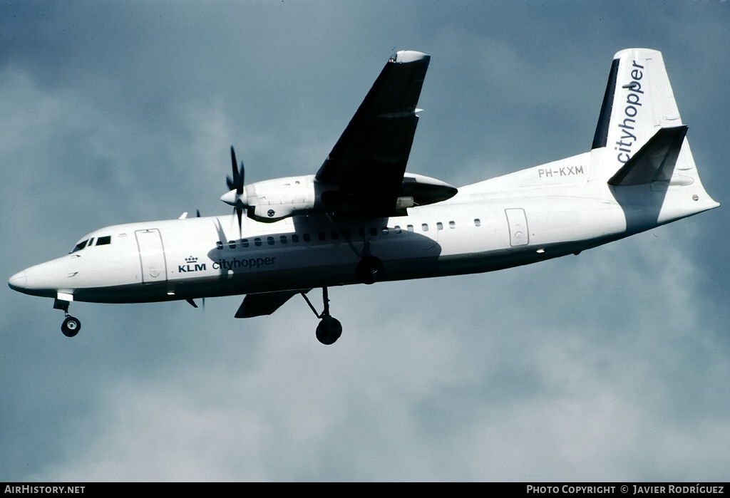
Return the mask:
[(651, 192), (680, 190), (656, 200), (658, 219), (715, 208), (719, 204), (702, 187), (686, 134), (661, 52), (617, 52), (593, 136), (590, 181), (607, 182), (617, 194), (637, 185), (650, 185)]

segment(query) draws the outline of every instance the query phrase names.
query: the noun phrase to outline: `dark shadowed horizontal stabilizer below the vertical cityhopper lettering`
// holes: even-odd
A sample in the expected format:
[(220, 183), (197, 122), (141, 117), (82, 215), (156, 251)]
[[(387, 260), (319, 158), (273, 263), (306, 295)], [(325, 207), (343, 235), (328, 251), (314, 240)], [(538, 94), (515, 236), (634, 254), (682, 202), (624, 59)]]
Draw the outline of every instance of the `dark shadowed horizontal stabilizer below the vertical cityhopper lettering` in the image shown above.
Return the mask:
[(682, 149), (687, 126), (661, 128), (611, 177), (618, 186), (669, 182)]

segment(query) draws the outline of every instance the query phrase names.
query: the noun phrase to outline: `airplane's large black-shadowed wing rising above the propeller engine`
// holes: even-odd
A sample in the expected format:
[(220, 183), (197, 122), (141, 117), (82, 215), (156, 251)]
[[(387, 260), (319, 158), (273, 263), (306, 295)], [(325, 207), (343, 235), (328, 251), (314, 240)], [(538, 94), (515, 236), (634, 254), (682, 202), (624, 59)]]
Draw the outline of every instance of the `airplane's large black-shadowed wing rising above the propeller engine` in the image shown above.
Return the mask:
[(396, 213), (430, 60), (410, 50), (391, 56), (318, 171), (318, 182), (337, 187), (323, 201), (339, 205), (342, 214)]

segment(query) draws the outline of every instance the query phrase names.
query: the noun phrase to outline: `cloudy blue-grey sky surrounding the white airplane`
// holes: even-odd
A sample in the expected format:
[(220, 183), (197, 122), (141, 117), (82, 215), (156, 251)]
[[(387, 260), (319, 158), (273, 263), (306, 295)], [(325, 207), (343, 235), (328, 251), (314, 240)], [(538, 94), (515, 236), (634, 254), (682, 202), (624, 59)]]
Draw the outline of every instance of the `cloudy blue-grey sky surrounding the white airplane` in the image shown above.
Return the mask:
[[(521, 268), (293, 299), (2, 291), (0, 481), (729, 481), (730, 2), (0, 1), (0, 268), (226, 214), (313, 174), (395, 50), (431, 55), (407, 171), (588, 151), (612, 56), (661, 50), (726, 206)], [(312, 297), (316, 294), (312, 292)]]

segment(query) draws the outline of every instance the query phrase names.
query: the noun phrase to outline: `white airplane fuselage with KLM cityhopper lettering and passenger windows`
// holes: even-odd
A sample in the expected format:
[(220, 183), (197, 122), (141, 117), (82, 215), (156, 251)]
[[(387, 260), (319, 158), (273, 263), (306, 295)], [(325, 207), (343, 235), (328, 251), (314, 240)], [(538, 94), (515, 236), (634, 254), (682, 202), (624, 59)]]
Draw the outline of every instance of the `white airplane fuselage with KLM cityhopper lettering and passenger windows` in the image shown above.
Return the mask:
[[(382, 281), (510, 268), (590, 249), (718, 206), (690, 185), (610, 187), (591, 153), (461, 187), (407, 216), (274, 223), (200, 217), (115, 225), (83, 249), (15, 274), (13, 289), (137, 303), (356, 284), (365, 230)], [(109, 237), (107, 239), (107, 237)], [(108, 244), (97, 245), (100, 240)], [(352, 243), (348, 243), (347, 239)]]

